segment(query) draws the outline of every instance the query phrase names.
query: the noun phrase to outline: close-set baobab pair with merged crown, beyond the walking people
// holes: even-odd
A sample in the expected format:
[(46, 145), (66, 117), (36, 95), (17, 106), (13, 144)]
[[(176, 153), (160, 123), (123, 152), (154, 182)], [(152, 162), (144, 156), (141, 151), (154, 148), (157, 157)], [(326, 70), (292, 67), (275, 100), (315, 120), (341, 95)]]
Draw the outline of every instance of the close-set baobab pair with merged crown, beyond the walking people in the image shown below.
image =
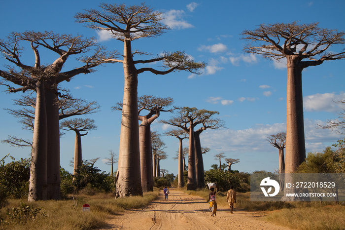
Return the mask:
[[(217, 128), (222, 126), (223, 122), (221, 120), (210, 118), (214, 114), (219, 113), (216, 111), (183, 107), (178, 111), (178, 115), (173, 116), (169, 120), (161, 121), (162, 123), (181, 128), (189, 134), (187, 190), (196, 190), (198, 185), (199, 187), (205, 186), (204, 162), (199, 135), (207, 128)], [(203, 126), (197, 131), (194, 131), (194, 128), (198, 124), (202, 124)]]

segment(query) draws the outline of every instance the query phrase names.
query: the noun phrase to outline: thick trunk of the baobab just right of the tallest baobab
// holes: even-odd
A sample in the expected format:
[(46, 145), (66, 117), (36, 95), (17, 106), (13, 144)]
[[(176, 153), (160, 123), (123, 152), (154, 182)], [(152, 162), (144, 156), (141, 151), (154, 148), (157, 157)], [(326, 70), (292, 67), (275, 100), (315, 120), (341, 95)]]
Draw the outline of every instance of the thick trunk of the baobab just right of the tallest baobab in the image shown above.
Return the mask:
[(139, 150), (142, 192), (153, 191), (151, 130), (147, 120), (139, 125)]

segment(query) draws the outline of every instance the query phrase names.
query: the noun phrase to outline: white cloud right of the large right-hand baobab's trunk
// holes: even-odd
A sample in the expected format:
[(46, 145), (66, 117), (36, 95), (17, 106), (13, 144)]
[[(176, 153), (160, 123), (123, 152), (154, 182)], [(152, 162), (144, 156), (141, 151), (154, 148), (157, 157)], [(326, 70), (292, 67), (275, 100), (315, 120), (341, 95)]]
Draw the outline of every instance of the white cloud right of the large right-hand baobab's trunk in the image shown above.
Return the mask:
[(303, 106), (306, 111), (326, 111), (326, 112), (340, 112), (342, 111), (343, 103), (336, 103), (344, 100), (345, 93), (339, 95), (335, 93), (317, 93), (303, 98)]

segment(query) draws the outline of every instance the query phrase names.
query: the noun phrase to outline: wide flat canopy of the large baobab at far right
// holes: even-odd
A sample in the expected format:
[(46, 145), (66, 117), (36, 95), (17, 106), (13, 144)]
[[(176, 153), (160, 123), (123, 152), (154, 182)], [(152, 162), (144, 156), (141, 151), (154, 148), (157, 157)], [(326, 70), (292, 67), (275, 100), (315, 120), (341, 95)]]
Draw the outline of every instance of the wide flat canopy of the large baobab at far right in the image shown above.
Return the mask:
[[(242, 39), (254, 41), (244, 46), (248, 53), (260, 54), (266, 58), (280, 60), (294, 56), (301, 68), (320, 65), (323, 61), (345, 58), (345, 50), (334, 53), (328, 49), (345, 43), (344, 32), (323, 29), (318, 23), (261, 24), (253, 31), (244, 30)], [(303, 59), (308, 61), (301, 62)]]

